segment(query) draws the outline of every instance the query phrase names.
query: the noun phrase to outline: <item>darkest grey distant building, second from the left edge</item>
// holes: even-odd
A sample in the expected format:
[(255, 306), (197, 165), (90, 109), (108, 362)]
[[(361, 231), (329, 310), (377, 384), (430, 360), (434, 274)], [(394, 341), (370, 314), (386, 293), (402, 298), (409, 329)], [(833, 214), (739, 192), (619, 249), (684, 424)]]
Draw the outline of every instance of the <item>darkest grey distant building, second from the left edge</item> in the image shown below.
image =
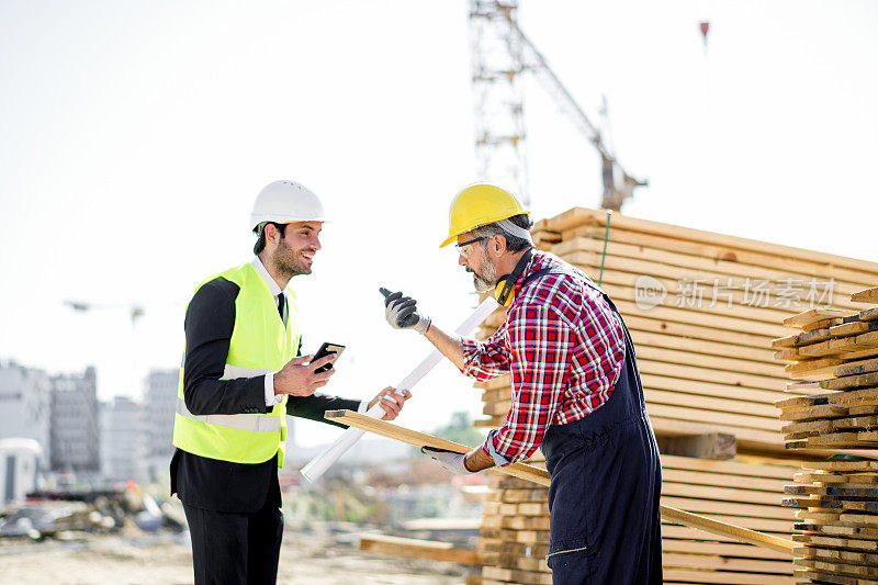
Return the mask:
[(53, 471), (98, 472), (98, 386), (94, 368), (82, 375), (50, 378), (50, 462)]

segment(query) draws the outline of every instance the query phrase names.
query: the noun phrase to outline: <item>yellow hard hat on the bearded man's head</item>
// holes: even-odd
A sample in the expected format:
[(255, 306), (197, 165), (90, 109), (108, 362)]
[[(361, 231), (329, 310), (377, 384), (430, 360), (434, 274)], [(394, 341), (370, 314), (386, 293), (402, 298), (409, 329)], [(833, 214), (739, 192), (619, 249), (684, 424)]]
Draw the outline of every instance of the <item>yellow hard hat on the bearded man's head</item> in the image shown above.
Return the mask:
[(480, 225), (507, 220), (513, 215), (530, 213), (511, 191), (491, 183), (472, 183), (464, 187), (451, 202), (448, 213), (448, 246), (454, 238)]

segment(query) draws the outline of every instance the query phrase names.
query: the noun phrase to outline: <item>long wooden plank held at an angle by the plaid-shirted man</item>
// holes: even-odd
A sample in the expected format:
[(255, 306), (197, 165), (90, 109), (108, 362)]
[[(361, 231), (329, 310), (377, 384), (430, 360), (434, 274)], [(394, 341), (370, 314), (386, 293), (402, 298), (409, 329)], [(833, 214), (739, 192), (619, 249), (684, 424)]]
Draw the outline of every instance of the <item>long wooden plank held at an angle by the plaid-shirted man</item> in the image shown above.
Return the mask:
[[(387, 423), (386, 420), (379, 420), (352, 410), (328, 410), (325, 416), (326, 418), (336, 423), (342, 423), (351, 427), (368, 430), (370, 432), (407, 442), (408, 445), (414, 445), (416, 447), (435, 447), (437, 449), (446, 449), (455, 453), (466, 453), (471, 450), (470, 447), (464, 445), (441, 439), (439, 437), (434, 437), (431, 435), (427, 435), (426, 432), (410, 430), (405, 427), (401, 427), (399, 425)], [(545, 487), (549, 486), (549, 472), (532, 465), (513, 463), (511, 465), (497, 468), (496, 471), (522, 480), (531, 481), (538, 485)], [(682, 524), (691, 528), (698, 528), (716, 535), (731, 537), (735, 540), (740, 540), (741, 542), (756, 544), (757, 547), (765, 547), (778, 552), (792, 554), (792, 548), (796, 545), (796, 543), (791, 540), (764, 535), (755, 530), (713, 520), (705, 516), (690, 514), (688, 511), (672, 508), (669, 506), (661, 506), (661, 513), (662, 518), (668, 521)]]

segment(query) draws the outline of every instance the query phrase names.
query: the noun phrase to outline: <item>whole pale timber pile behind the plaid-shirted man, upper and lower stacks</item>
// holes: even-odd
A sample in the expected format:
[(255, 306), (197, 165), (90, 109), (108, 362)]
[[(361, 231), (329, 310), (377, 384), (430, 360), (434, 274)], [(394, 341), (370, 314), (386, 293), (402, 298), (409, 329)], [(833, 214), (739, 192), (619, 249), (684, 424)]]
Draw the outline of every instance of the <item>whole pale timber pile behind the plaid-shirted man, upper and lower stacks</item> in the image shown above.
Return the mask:
[[(811, 302), (853, 313), (857, 305), (849, 295), (878, 282), (878, 263), (585, 209), (539, 222), (533, 239), (539, 249), (601, 280), (631, 330), (663, 452), (662, 503), (789, 537), (795, 510), (781, 505), (783, 490), (801, 468), (785, 450), (774, 403), (814, 390), (786, 387), (772, 340), (785, 337), (784, 319)], [(646, 291), (652, 302), (644, 303), (638, 292), (644, 282), (664, 295)], [(716, 302), (714, 283), (721, 293)], [(796, 283), (799, 303), (791, 299)], [(832, 297), (811, 297), (811, 289), (828, 292), (822, 285)], [(504, 318), (502, 311), (492, 315), (480, 337), (492, 335)], [(509, 378), (476, 385), (487, 415), (477, 425), (502, 425), (511, 405)], [(697, 459), (735, 452), (730, 461)], [(529, 463), (541, 465), (540, 459), (538, 451)], [(547, 490), (499, 476), (491, 486), (479, 543), (483, 583), (551, 583)], [(769, 549), (673, 524), (663, 526), (662, 545), (668, 583), (795, 582), (791, 558)]]

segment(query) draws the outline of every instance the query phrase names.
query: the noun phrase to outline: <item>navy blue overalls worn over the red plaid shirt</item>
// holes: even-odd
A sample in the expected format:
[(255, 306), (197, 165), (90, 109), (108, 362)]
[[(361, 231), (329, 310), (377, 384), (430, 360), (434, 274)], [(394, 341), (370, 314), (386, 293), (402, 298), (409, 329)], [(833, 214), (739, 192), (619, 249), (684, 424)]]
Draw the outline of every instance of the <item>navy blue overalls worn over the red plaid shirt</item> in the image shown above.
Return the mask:
[(622, 329), (624, 365), (610, 398), (579, 420), (549, 427), (540, 447), (552, 477), (554, 585), (662, 583), (662, 465), (634, 346), (624, 323)]

